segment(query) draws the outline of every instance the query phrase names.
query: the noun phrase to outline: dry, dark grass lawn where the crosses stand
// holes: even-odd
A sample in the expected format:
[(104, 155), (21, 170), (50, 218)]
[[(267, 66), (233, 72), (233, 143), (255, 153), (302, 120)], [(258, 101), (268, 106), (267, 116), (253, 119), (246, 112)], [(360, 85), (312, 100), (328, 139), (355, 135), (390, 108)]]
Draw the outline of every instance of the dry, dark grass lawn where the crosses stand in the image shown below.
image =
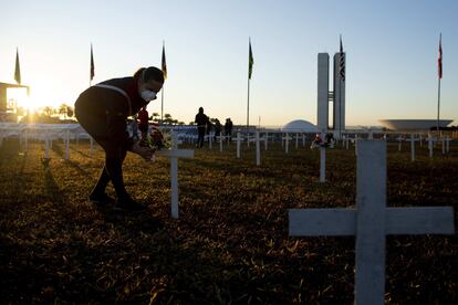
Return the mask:
[[(44, 146), (17, 139), (0, 147), (1, 303), (351, 304), (354, 238), (289, 238), (289, 208), (355, 204), (354, 150), (327, 152), (280, 144), (256, 166), (254, 145), (196, 150), (179, 160), (180, 218), (170, 218), (167, 159), (146, 165), (129, 154), (127, 190), (145, 213), (87, 200), (104, 155), (87, 143)], [(186, 145), (184, 148), (189, 148)], [(389, 207), (451, 206), (458, 213), (458, 147), (434, 159), (417, 144), (388, 145)], [(108, 193), (114, 196), (113, 188)], [(457, 235), (387, 236), (388, 304), (457, 304)]]

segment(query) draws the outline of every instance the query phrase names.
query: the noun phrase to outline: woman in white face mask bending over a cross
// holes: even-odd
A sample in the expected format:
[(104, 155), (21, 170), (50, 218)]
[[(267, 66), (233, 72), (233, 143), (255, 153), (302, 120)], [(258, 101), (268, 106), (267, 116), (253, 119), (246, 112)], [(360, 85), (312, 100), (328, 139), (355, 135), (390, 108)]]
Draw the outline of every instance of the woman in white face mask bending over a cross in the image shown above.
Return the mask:
[(116, 208), (131, 211), (146, 207), (131, 198), (124, 187), (123, 161), (127, 150), (150, 160), (154, 150), (134, 141), (126, 130), (128, 116), (156, 99), (164, 84), (163, 72), (154, 66), (139, 69), (134, 76), (113, 78), (85, 90), (75, 102), (75, 115), (83, 128), (105, 150), (105, 166), (90, 194), (92, 201), (106, 203), (111, 199), (105, 188), (110, 181), (116, 191)]

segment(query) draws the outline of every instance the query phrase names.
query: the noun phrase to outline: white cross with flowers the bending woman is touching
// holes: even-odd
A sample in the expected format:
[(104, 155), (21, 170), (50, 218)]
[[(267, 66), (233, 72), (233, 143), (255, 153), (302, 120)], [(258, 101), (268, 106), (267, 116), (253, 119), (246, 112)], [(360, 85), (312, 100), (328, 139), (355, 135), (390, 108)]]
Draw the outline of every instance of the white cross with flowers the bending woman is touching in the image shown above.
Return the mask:
[(176, 135), (171, 135), (171, 148), (156, 152), (158, 156), (170, 159), (170, 185), (171, 185), (171, 217), (178, 219), (178, 158), (194, 158), (194, 150), (178, 149)]

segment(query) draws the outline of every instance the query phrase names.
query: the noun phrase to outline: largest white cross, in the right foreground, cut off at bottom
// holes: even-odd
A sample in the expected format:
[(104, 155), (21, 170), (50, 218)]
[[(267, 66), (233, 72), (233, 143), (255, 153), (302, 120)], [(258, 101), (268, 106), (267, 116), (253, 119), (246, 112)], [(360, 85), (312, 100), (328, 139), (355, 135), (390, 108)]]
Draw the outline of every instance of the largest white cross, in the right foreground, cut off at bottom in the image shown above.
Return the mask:
[(355, 209), (290, 209), (291, 236), (355, 235), (355, 303), (384, 304), (387, 234), (454, 234), (451, 207), (386, 208), (386, 143), (360, 140)]

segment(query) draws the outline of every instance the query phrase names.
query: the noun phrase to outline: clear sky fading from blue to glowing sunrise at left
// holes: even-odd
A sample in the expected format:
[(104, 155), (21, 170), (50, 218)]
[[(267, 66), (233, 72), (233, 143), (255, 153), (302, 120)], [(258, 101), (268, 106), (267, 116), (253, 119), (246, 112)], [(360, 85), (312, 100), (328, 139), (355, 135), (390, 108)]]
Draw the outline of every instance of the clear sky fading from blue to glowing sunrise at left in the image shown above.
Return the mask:
[[(164, 113), (189, 123), (202, 106), (244, 125), (251, 38), (250, 124), (315, 124), (318, 53), (339, 52), (342, 34), (347, 125), (435, 119), (441, 33), (440, 117), (458, 124), (456, 0), (15, 0), (1, 11), (0, 82), (14, 83), (18, 48), (34, 106), (73, 105), (91, 43), (95, 84), (160, 67), (164, 41)], [(148, 111), (160, 114), (160, 94)]]

